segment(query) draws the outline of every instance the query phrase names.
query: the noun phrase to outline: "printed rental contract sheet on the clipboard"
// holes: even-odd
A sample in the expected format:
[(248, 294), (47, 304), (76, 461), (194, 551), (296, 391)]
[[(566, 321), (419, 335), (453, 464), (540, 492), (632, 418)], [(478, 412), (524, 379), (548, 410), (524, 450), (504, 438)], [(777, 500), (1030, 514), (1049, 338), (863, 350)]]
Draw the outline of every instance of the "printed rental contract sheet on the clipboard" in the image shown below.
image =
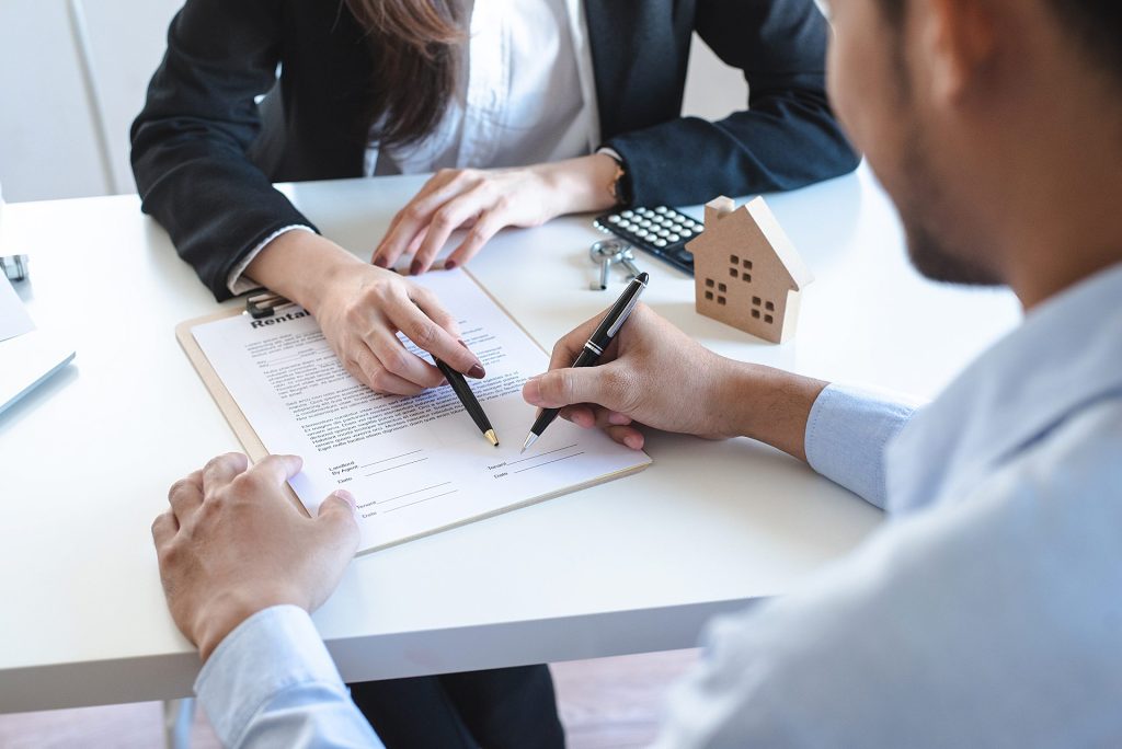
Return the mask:
[(266, 450), (304, 459), (291, 483), (309, 512), (335, 489), (349, 490), (358, 503), (361, 553), (650, 464), (644, 453), (563, 419), (519, 454), (535, 416), (522, 399), (522, 385), (545, 371), (549, 358), (462, 271), (427, 274), (417, 283), (458, 316), (463, 340), (487, 370), (485, 379), (468, 381), (498, 434), (498, 447), (484, 438), (448, 385), (401, 397), (378, 395), (355, 380), (300, 307), (191, 329)]

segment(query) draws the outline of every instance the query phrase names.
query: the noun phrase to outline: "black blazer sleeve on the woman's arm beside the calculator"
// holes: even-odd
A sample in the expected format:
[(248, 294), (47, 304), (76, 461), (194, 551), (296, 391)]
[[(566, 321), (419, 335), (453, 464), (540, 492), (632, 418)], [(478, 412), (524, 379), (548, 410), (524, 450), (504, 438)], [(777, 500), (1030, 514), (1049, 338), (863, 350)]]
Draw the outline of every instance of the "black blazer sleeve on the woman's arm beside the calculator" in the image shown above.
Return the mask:
[(636, 205), (791, 189), (856, 168), (826, 99), (829, 28), (813, 0), (698, 0), (693, 28), (744, 71), (748, 110), (678, 118), (607, 140)]

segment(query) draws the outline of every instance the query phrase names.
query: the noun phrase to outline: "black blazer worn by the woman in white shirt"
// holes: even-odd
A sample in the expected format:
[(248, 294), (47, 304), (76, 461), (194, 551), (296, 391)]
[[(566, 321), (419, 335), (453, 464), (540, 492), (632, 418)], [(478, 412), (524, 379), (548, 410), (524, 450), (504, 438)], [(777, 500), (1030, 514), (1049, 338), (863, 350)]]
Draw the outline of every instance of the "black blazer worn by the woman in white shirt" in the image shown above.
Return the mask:
[[(813, 0), (585, 9), (604, 144), (624, 158), (635, 204), (787, 189), (857, 164), (826, 101), (829, 31)], [(680, 117), (695, 30), (744, 71), (747, 110)], [(274, 231), (313, 226), (272, 182), (361, 176), (374, 74), (341, 0), (186, 0), (132, 124), (132, 170), (144, 211), (215, 297)]]

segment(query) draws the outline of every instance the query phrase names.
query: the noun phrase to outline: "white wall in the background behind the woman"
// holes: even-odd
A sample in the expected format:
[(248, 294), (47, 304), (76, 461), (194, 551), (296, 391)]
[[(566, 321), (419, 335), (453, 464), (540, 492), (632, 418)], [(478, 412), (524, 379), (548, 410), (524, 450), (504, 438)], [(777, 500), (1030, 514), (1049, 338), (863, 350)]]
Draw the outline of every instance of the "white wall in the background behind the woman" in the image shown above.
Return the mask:
[[(136, 189), (128, 130), (182, 0), (0, 0), (0, 183), (9, 202)], [(738, 71), (695, 40), (683, 112), (744, 107)]]

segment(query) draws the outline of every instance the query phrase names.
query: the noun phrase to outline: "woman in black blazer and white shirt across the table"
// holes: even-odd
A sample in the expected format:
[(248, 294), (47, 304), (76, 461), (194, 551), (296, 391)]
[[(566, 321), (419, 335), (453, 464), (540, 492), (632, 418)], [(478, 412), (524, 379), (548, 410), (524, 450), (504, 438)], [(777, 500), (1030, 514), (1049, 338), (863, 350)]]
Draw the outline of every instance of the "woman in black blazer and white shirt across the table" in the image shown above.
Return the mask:
[[(695, 30), (745, 71), (748, 110), (680, 117)], [(484, 374), (454, 318), (386, 269), (427, 270), (456, 228), (471, 231), (447, 266), (503, 226), (854, 168), (826, 103), (826, 35), (813, 0), (187, 0), (132, 127), (134, 172), (144, 210), (217, 298), (283, 294), (356, 378), (415, 394), (442, 378), (397, 331)], [(270, 184), (427, 172), (373, 263)], [(390, 746), (562, 740), (544, 667), (353, 693)]]

